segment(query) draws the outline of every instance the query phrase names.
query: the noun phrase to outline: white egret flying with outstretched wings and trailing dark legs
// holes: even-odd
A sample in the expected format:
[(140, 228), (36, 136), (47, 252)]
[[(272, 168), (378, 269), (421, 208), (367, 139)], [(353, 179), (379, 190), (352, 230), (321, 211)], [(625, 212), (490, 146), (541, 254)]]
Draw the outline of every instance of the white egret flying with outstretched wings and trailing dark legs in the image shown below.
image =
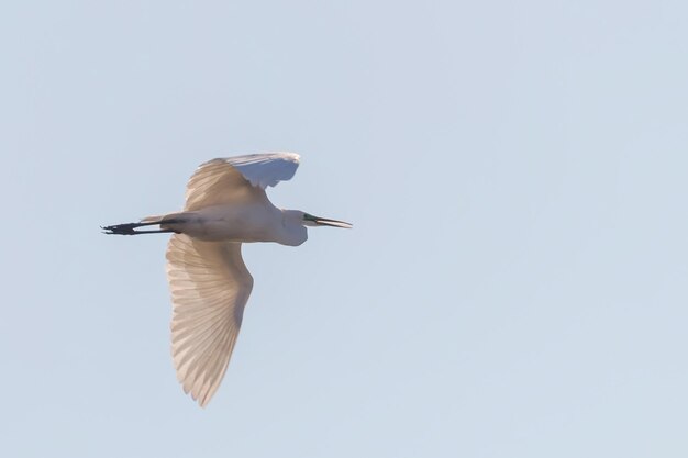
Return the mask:
[[(265, 189), (289, 180), (298, 166), (299, 155), (293, 153), (212, 159), (189, 180), (182, 212), (102, 227), (120, 235), (174, 233), (166, 255), (171, 353), (184, 391), (201, 406), (226, 371), (253, 288), (242, 243), (298, 246), (308, 238), (306, 226), (352, 227), (270, 203)], [(152, 225), (159, 228), (136, 231)]]

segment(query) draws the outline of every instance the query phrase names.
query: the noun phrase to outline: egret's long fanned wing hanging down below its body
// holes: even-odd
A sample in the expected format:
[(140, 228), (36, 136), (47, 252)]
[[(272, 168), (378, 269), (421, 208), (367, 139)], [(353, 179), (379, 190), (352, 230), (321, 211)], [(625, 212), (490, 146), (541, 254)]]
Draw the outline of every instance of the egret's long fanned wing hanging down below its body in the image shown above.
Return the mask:
[(206, 406), (224, 377), (253, 289), (240, 243), (174, 234), (167, 246), (177, 379)]

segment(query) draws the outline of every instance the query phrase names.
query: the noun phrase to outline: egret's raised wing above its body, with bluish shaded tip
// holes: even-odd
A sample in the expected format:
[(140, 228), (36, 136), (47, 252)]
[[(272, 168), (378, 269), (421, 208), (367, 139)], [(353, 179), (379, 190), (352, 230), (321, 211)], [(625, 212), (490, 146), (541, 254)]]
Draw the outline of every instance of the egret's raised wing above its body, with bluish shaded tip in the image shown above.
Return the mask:
[(267, 199), (265, 188), (293, 177), (295, 153), (266, 153), (212, 159), (201, 164), (187, 185), (185, 210)]

